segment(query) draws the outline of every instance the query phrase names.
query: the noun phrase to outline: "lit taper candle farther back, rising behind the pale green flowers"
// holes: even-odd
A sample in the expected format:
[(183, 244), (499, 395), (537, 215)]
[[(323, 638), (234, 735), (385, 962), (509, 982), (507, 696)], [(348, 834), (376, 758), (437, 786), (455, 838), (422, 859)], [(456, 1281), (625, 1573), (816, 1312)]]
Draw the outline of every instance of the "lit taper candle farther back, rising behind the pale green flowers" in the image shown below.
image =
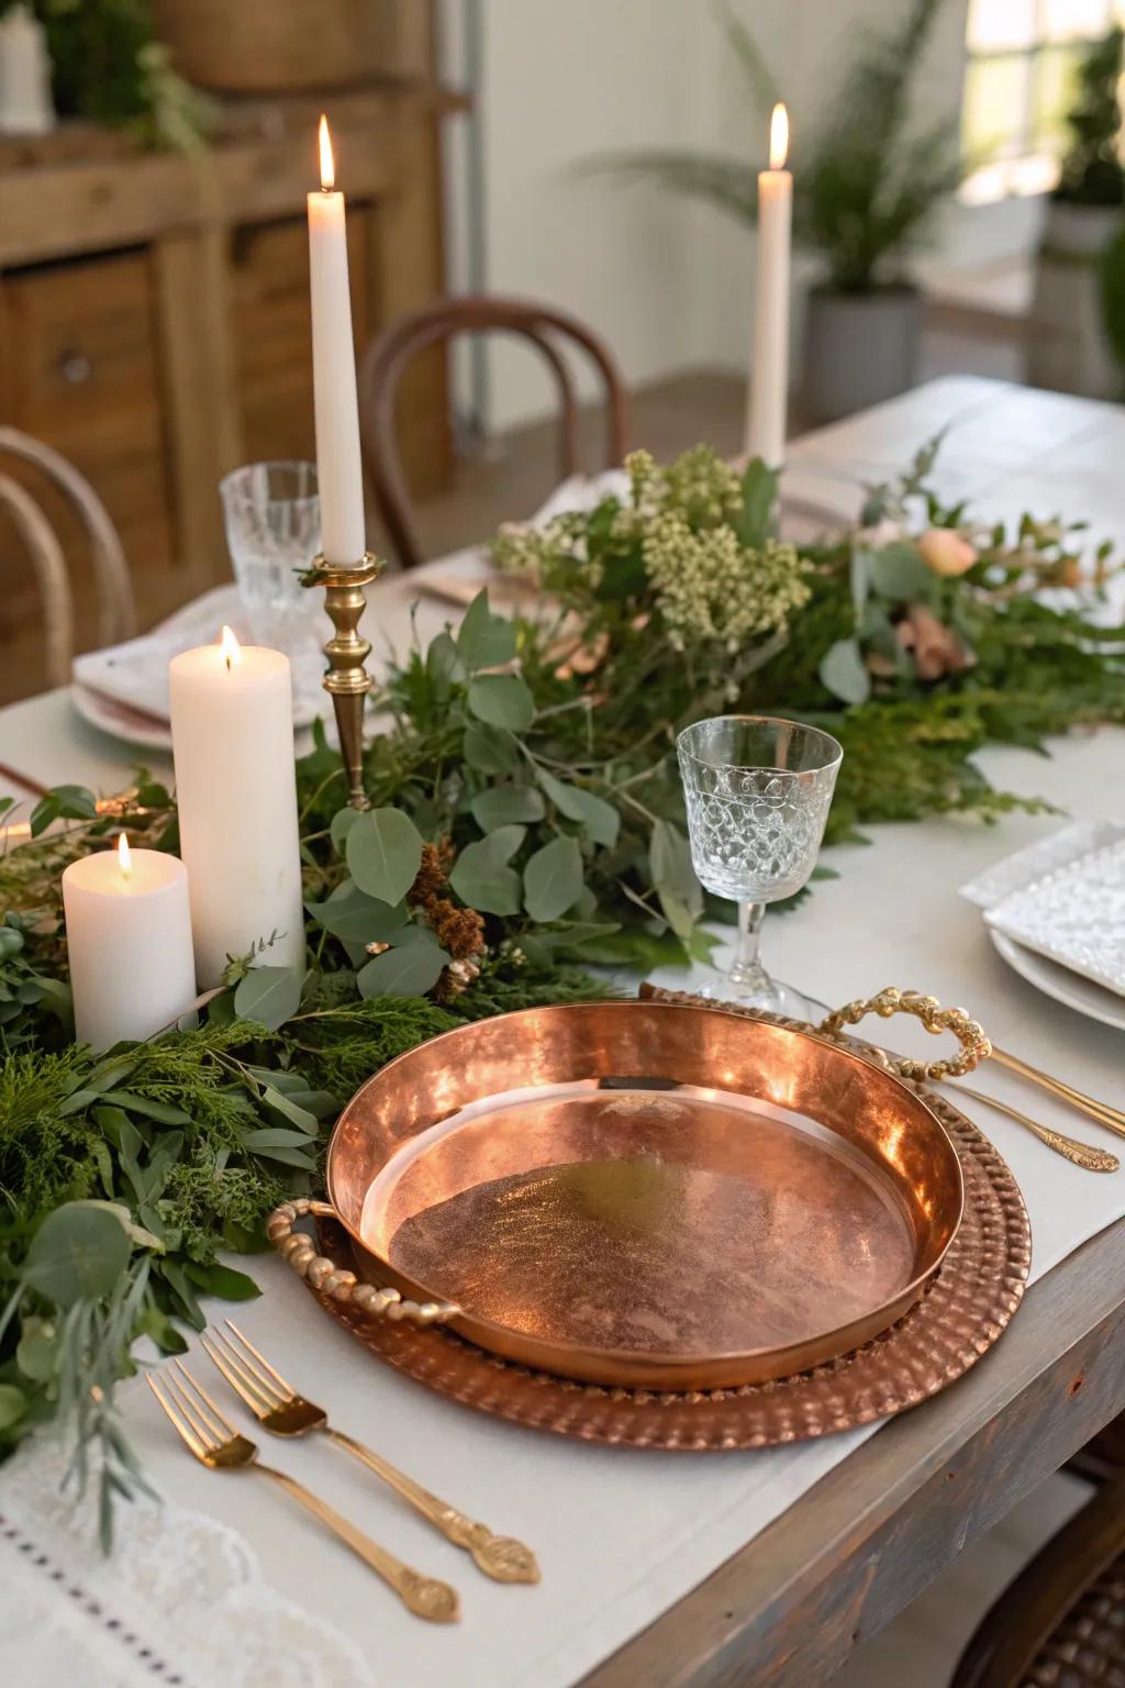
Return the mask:
[(789, 397), (793, 176), (783, 169), (788, 150), (789, 116), (779, 105), (769, 125), (769, 169), (757, 177), (757, 299), (746, 427), (747, 457), (762, 457), (771, 469), (784, 461)]

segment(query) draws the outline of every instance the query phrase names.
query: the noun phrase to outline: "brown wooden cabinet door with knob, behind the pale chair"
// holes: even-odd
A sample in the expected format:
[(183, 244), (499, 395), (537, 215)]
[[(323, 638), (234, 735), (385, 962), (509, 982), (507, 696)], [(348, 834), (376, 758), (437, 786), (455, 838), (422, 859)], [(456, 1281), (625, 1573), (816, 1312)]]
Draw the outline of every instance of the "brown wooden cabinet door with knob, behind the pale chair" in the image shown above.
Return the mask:
[[(54, 446), (105, 500), (132, 565), (138, 621), (147, 626), (180, 601), (147, 255), (12, 270), (2, 300), (0, 417)], [(78, 648), (89, 648), (98, 643), (98, 616), (81, 525), (34, 469), (10, 473), (42, 503), (62, 542)], [(7, 701), (46, 684), (39, 596), (7, 522), (0, 579), (0, 701)]]

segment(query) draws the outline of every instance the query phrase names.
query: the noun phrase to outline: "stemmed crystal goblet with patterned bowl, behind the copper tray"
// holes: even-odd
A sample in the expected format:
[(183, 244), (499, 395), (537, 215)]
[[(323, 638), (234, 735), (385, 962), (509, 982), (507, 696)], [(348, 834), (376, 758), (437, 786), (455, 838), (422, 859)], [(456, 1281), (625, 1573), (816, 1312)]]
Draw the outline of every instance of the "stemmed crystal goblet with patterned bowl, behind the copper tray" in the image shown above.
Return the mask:
[(799, 891), (816, 866), (843, 751), (796, 721), (715, 716), (686, 728), (676, 753), (695, 874), (739, 905), (722, 994), (805, 1020), (805, 998), (762, 967), (759, 933), (766, 905)]

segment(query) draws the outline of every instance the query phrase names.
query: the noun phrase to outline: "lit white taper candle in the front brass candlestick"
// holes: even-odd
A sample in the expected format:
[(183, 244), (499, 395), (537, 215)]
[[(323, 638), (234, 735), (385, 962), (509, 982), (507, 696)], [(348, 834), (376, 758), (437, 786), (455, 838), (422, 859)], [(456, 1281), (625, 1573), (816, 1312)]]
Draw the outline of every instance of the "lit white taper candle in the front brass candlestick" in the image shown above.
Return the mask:
[(366, 550), (356, 349), (347, 290), (344, 196), (332, 192), (327, 118), (320, 118), (320, 192), (309, 194), (312, 287), (312, 393), (317, 415), (317, 483), (324, 560), (361, 562)]

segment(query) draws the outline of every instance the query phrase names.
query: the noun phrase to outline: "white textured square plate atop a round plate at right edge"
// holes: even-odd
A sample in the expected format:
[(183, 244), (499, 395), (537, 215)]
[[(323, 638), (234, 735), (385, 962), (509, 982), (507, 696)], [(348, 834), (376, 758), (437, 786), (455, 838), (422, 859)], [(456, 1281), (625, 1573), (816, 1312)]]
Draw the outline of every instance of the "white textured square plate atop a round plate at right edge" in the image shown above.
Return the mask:
[(1125, 842), (1081, 856), (985, 910), (1024, 949), (1125, 996)]

